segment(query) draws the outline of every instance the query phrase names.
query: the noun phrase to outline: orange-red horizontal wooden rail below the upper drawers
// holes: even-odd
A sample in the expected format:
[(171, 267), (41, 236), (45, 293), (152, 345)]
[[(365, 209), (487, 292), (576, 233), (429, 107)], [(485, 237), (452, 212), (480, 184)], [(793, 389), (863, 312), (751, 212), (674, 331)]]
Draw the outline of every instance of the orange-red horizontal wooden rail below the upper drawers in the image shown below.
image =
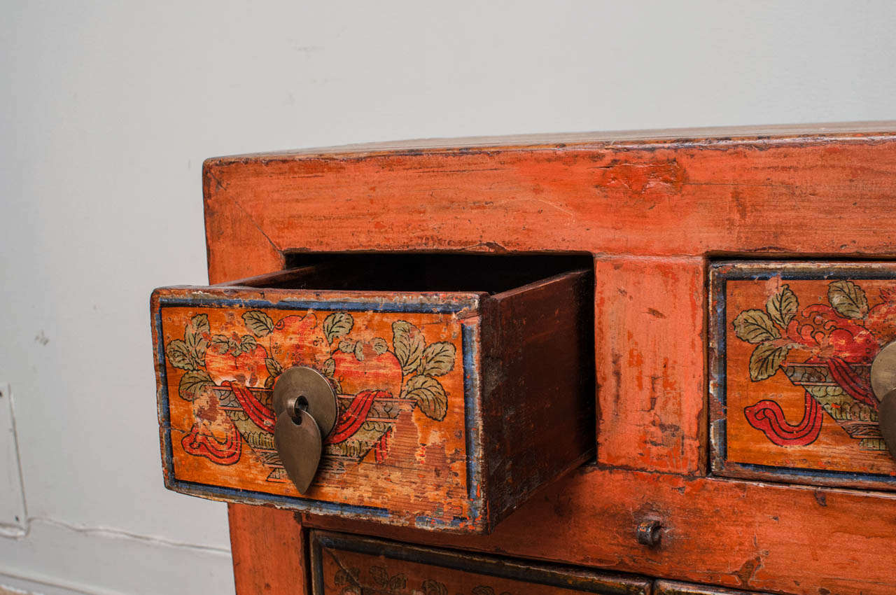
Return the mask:
[[(661, 523), (659, 547), (636, 539)], [(306, 526), (411, 543), (643, 573), (748, 591), (896, 591), (896, 496), (584, 468), (489, 536), (458, 537), (306, 516)]]

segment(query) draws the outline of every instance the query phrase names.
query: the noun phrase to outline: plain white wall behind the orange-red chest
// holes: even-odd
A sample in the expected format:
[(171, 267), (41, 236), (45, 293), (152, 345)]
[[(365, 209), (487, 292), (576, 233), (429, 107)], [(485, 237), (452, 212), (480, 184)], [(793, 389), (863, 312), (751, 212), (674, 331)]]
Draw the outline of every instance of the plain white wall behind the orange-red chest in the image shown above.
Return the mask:
[(0, 518), (0, 584), (49, 593), (233, 589), (224, 505), (162, 487), (151, 365), (151, 289), (206, 281), (204, 158), (896, 116), (886, 0), (6, 0), (2, 13), (0, 387), (27, 513)]

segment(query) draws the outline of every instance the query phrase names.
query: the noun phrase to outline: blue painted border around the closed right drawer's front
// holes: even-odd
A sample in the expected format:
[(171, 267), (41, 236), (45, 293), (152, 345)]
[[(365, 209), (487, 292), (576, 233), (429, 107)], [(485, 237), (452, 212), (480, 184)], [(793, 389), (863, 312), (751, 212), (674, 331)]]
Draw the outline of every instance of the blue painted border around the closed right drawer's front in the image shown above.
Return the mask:
[[(831, 267), (843, 269), (849, 266), (855, 266), (859, 269), (863, 264), (867, 265), (871, 263), (831, 263)], [(726, 272), (719, 270), (721, 267), (725, 266), (737, 266), (740, 268)], [(850, 479), (856, 481), (876, 481), (896, 485), (896, 477), (883, 473), (854, 473), (852, 471), (837, 470), (826, 471), (804, 469), (800, 467), (777, 467), (774, 465), (758, 465), (755, 463), (728, 461), (728, 375), (727, 370), (725, 369), (726, 356), (728, 354), (728, 325), (726, 324), (726, 321), (728, 320), (728, 280), (769, 280), (774, 277), (780, 277), (781, 280), (896, 280), (896, 272), (892, 271), (868, 271), (866, 269), (864, 271), (857, 270), (856, 272), (849, 272), (839, 270), (829, 274), (820, 275), (818, 272), (803, 271), (800, 269), (788, 271), (787, 268), (770, 268), (765, 271), (747, 271), (745, 270), (746, 266), (749, 266), (749, 264), (743, 262), (720, 262), (710, 264), (711, 271), (714, 273), (716, 279), (719, 280), (719, 295), (715, 296), (717, 297), (715, 316), (719, 358), (717, 358), (718, 361), (715, 372), (716, 382), (719, 384), (719, 394), (716, 396), (725, 410), (725, 416), (721, 418), (721, 423), (719, 424), (717, 431), (717, 435), (719, 436), (719, 455), (722, 458), (723, 464), (731, 462), (741, 469), (769, 473), (772, 475), (786, 473), (788, 475), (797, 475), (807, 479)], [(755, 263), (755, 266), (771, 267), (773, 264)], [(798, 267), (799, 263), (796, 263), (796, 266)]]

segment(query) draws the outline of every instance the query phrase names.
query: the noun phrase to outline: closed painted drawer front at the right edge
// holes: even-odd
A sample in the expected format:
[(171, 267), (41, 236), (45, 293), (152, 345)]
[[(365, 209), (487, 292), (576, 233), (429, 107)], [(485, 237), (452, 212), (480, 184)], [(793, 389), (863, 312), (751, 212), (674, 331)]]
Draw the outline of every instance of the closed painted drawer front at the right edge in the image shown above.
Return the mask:
[(713, 472), (896, 487), (870, 380), (896, 264), (718, 263), (711, 288)]

